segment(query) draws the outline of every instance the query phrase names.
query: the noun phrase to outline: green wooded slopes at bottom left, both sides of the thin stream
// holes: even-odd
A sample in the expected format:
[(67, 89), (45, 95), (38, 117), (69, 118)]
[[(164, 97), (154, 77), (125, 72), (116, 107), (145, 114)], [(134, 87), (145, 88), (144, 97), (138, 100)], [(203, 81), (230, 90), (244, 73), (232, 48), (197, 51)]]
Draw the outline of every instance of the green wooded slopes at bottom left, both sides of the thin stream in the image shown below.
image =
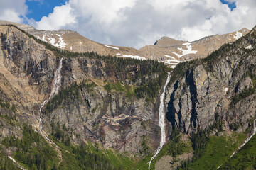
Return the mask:
[[(130, 169), (134, 161), (122, 154), (117, 154), (102, 146), (92, 143), (82, 143), (73, 146), (70, 137), (65, 134), (65, 125), (60, 127), (57, 123), (53, 125), (53, 137), (55, 143), (62, 149), (62, 161), (57, 152), (48, 145), (46, 140), (35, 132), (31, 125), (23, 125), (23, 136), (19, 140), (15, 136), (5, 137), (1, 144), (5, 147), (16, 148), (14, 159), (28, 169)], [(0, 168), (15, 169), (13, 163), (1, 154)], [(59, 166), (57, 166), (59, 164)], [(12, 168), (14, 167), (14, 168)]]

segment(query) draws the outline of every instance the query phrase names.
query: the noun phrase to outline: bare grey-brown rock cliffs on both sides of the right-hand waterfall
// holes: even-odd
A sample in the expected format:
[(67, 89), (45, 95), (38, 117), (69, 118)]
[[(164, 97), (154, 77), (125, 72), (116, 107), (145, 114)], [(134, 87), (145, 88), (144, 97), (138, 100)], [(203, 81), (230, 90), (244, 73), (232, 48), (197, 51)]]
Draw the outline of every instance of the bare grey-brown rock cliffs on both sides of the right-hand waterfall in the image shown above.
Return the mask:
[[(0, 26), (0, 31), (1, 103), (15, 106), (1, 106), (1, 114), (16, 115), (19, 123), (27, 122), (38, 130), (39, 108), (49, 97), (63, 53), (48, 50), (13, 26)], [(250, 128), (256, 105), (255, 41), (254, 29), (206, 59), (178, 64), (166, 89), (169, 135), (174, 126), (188, 135), (213, 125), (227, 131)], [(53, 125), (60, 124), (65, 125), (74, 143), (90, 140), (129, 153), (142, 151), (144, 140), (152, 150), (159, 145), (161, 89), (153, 87), (163, 86), (158, 79), (166, 74), (163, 64), (96, 57), (94, 53), (65, 56), (62, 64), (63, 96), (43, 108), (43, 131), (47, 135)], [(156, 67), (152, 67), (154, 64)], [(151, 81), (154, 83), (149, 84)], [(134, 89), (141, 86), (141, 91), (148, 91), (149, 86), (154, 89), (153, 100), (134, 95)], [(8, 123), (1, 116), (0, 123), (1, 137), (21, 136), (20, 124)]]

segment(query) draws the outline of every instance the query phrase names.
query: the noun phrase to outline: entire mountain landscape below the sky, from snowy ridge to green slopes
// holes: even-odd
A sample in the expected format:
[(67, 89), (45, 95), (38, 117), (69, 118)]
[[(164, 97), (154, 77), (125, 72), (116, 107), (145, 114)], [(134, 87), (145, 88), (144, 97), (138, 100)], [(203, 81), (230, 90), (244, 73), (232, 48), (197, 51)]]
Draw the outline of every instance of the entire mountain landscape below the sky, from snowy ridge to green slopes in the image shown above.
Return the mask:
[(149, 169), (163, 132), (151, 169), (255, 169), (256, 28), (137, 50), (0, 24), (1, 169)]

